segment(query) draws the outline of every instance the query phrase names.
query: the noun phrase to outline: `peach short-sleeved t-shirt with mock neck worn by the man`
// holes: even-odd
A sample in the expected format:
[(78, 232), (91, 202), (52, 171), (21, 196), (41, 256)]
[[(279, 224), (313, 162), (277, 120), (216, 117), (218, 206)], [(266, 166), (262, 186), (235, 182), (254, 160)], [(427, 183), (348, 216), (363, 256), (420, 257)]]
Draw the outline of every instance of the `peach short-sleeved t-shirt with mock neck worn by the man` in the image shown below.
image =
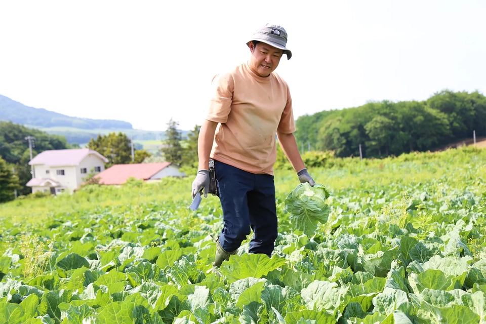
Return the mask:
[(275, 134), (295, 132), (289, 86), (276, 73), (261, 77), (248, 63), (216, 75), (206, 119), (216, 128), (211, 157), (254, 174), (273, 175)]

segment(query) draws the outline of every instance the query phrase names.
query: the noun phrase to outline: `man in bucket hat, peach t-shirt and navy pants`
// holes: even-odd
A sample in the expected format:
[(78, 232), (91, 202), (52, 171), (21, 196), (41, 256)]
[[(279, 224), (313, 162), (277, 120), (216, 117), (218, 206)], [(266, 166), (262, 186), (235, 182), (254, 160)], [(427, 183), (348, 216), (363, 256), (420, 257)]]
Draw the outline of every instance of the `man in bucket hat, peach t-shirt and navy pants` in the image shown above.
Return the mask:
[(219, 267), (253, 229), (250, 253), (269, 257), (277, 237), (273, 165), (276, 140), (301, 183), (314, 185), (304, 166), (295, 132), (292, 98), (287, 83), (274, 70), (286, 48), (287, 32), (266, 24), (247, 43), (250, 59), (213, 78), (209, 112), (200, 128), (199, 171), (192, 197), (207, 197), (208, 164), (214, 160), (224, 227), (216, 239), (214, 267)]

